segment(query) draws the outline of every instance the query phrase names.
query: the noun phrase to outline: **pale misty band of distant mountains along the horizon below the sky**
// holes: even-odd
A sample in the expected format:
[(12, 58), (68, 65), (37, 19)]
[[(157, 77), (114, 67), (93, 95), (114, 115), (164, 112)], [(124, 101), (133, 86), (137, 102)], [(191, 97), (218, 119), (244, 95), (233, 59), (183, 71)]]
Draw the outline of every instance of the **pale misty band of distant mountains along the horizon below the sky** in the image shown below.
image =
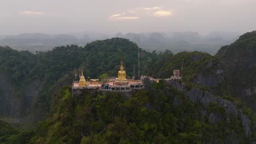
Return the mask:
[(126, 38), (137, 43), (147, 51), (171, 50), (202, 51), (214, 55), (223, 45), (234, 42), (240, 33), (210, 32), (208, 35), (199, 35), (197, 32), (150, 32), (150, 33), (126, 33), (115, 35), (103, 33), (85, 32), (71, 34), (43, 34), (22, 33), (18, 35), (0, 35), (0, 45), (10, 46), (15, 50), (48, 51), (56, 46), (79, 45), (84, 46), (95, 40), (109, 39), (112, 37)]

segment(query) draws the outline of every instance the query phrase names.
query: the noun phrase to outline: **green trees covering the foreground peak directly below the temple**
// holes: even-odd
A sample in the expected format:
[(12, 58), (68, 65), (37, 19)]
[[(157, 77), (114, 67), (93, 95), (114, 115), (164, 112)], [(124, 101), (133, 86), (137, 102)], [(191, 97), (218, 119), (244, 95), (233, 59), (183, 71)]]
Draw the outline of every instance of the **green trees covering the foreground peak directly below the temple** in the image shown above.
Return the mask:
[[(202, 111), (218, 115), (219, 120), (212, 122)], [(255, 113), (251, 114), (255, 122)], [(226, 114), (223, 106), (192, 103), (164, 81), (130, 99), (88, 91), (73, 99), (71, 88), (62, 87), (48, 119), (28, 133), (29, 143), (246, 143), (254, 135), (255, 131), (246, 137), (239, 118)]]

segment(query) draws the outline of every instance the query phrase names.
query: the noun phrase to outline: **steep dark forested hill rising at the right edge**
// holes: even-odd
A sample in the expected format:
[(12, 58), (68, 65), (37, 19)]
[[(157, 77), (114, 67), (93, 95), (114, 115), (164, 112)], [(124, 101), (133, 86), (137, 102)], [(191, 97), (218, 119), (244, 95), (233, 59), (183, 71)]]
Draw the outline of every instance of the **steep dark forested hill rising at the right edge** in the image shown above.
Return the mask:
[(221, 47), (217, 56), (225, 64), (226, 89), (256, 111), (256, 31), (245, 33), (235, 43)]

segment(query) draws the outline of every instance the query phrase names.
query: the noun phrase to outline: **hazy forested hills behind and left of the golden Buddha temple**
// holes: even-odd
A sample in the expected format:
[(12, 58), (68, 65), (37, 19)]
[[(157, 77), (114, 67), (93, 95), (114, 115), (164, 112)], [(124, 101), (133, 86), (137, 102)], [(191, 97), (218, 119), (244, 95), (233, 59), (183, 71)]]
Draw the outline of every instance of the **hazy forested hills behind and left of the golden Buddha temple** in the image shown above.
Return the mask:
[(138, 51), (141, 74), (145, 74), (158, 55), (139, 49), (127, 39), (99, 40), (84, 47), (60, 46), (35, 55), (0, 47), (0, 117), (32, 122), (44, 119), (54, 93), (72, 84), (74, 69), (83, 69), (85, 76), (95, 79), (104, 73), (117, 76), (123, 59), (127, 76), (133, 76), (133, 68), (138, 71)]

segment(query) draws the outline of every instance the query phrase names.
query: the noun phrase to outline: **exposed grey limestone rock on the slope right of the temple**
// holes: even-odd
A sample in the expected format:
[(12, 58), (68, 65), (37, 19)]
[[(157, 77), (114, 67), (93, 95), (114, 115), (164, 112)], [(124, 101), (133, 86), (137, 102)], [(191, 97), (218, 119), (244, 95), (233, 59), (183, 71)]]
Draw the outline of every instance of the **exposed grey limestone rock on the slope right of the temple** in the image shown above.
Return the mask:
[[(222, 79), (223, 80), (223, 79)], [(167, 83), (170, 83), (174, 88), (185, 91), (185, 88), (181, 88), (177, 82), (174, 81), (168, 81)], [(203, 83), (203, 82), (202, 82)], [(211, 83), (211, 82), (210, 82)], [(209, 85), (212, 86), (212, 85)], [(240, 119), (241, 124), (243, 125), (243, 128), (245, 129), (245, 135), (249, 136), (252, 134), (252, 123), (248, 116), (243, 113), (243, 109), (237, 108), (236, 104), (234, 102), (231, 102), (230, 100), (222, 99), (221, 97), (217, 96), (215, 97), (214, 94), (206, 91), (203, 93), (202, 90), (199, 88), (191, 88), (190, 91), (187, 92), (189, 100), (193, 101), (193, 103), (201, 103), (204, 107), (207, 107), (208, 105), (211, 106), (215, 105), (215, 107), (219, 106), (224, 110), (224, 113), (226, 116), (233, 115), (236, 118)], [(175, 106), (182, 105), (181, 100), (179, 100), (177, 97), (174, 97), (173, 104)], [(211, 123), (217, 123), (220, 119), (224, 119), (228, 123), (230, 123), (230, 118), (220, 115), (218, 112), (213, 112), (209, 110), (202, 110), (201, 117), (208, 117), (209, 121)], [(256, 126), (256, 125), (255, 125)], [(254, 126), (254, 127), (255, 127)], [(233, 131), (236, 133), (235, 131)], [(231, 142), (235, 142), (236, 140), (228, 140)]]

